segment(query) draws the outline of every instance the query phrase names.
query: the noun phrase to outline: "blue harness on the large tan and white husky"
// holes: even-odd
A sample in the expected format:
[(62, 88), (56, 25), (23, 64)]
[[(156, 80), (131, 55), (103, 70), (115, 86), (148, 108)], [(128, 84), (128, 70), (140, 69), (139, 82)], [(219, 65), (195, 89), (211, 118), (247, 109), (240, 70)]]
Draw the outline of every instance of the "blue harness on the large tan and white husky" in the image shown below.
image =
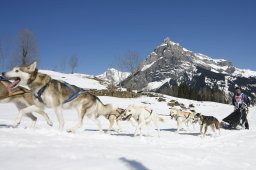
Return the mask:
[[(76, 91), (70, 84), (68, 84), (67, 82), (63, 82), (64, 83), (64, 85), (72, 92), (72, 95), (68, 98), (68, 99), (66, 99), (64, 102), (63, 102), (63, 104), (65, 104), (65, 103), (68, 103), (68, 102), (71, 102), (72, 100), (74, 100), (75, 98), (77, 98), (79, 95), (80, 95), (80, 93), (81, 92), (83, 92), (84, 91), (84, 89), (82, 89), (82, 88), (79, 88), (79, 90), (78, 91)], [(46, 89), (46, 87), (48, 86), (48, 84), (49, 84), (49, 82), (45, 85), (45, 86), (43, 86), (40, 90), (38, 90), (38, 92), (37, 92), (37, 95), (35, 95), (35, 97), (41, 102), (41, 103), (44, 103), (44, 101), (43, 101), (43, 99), (42, 99), (42, 94), (44, 93), (44, 91), (45, 91), (45, 89)]]

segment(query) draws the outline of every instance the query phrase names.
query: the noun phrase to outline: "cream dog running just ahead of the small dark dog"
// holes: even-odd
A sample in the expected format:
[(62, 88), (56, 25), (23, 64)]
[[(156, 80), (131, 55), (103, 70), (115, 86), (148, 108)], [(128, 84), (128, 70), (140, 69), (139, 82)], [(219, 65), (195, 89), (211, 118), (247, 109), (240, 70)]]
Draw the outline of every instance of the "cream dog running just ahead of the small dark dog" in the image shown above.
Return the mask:
[[(170, 116), (172, 119), (174, 119), (177, 122), (177, 132), (180, 132), (180, 125), (184, 123), (186, 127), (188, 128), (188, 124), (192, 124), (192, 120), (194, 118), (194, 113), (193, 112), (185, 112), (182, 111), (178, 108), (173, 107), (171, 109)], [(193, 124), (194, 126), (194, 124)]]

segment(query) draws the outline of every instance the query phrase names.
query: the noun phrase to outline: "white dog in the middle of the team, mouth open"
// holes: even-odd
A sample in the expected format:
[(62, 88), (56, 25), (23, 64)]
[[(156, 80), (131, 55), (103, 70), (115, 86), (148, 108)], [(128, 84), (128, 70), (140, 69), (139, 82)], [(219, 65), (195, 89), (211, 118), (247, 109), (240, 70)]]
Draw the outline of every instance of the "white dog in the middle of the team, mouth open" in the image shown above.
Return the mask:
[(157, 135), (160, 137), (158, 122), (163, 121), (163, 119), (146, 106), (128, 106), (123, 115), (123, 120), (130, 120), (132, 124), (136, 126), (134, 136), (137, 136), (138, 130), (140, 130), (140, 136), (142, 136), (142, 128), (146, 124), (153, 122), (157, 128)]

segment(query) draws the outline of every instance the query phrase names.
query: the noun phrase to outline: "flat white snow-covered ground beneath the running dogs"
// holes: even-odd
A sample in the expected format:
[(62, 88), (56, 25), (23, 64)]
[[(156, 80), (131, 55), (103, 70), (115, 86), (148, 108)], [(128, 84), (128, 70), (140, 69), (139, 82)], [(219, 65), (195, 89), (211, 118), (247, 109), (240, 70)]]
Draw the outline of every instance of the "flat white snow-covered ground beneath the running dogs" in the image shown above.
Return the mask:
[[(0, 104), (0, 169), (1, 170), (167, 170), (167, 169), (255, 169), (256, 154), (256, 108), (250, 108), (250, 130), (221, 130), (221, 136), (208, 135), (202, 139), (199, 127), (176, 133), (176, 123), (167, 116), (167, 102), (156, 98), (140, 97), (119, 99), (99, 97), (103, 103), (116, 107), (130, 104), (146, 104), (163, 118), (160, 135), (156, 137), (154, 126), (150, 126), (152, 136), (133, 137), (134, 127), (129, 122), (120, 122), (120, 134), (100, 133), (94, 121), (86, 118), (84, 126), (77, 133), (59, 132), (56, 116), (51, 109), (46, 111), (54, 122), (49, 127), (37, 115), (35, 129), (29, 128), (30, 120), (22, 119), (18, 128), (10, 128), (18, 112), (12, 104)], [(196, 102), (177, 99), (186, 106), (193, 104), (197, 112), (214, 115), (219, 120), (233, 109), (230, 105), (214, 102)], [(64, 111), (65, 128), (73, 126), (77, 114), (73, 110)], [(100, 118), (103, 128), (108, 121)], [(211, 132), (211, 129), (209, 129)]]

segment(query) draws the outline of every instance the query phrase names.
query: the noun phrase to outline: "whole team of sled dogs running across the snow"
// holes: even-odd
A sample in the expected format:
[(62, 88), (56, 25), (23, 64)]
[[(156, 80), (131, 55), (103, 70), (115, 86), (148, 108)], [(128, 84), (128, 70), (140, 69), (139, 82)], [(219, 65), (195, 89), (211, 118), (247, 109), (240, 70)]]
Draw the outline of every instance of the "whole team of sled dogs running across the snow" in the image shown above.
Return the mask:
[[(14, 67), (11, 71), (2, 73), (6, 89), (8, 89), (9, 97), (1, 99), (1, 102), (13, 102), (19, 110), (14, 126), (18, 126), (23, 116), (27, 116), (32, 120), (32, 126), (35, 126), (37, 118), (32, 112), (41, 114), (48, 125), (52, 126), (44, 109), (53, 108), (58, 122), (59, 129), (64, 129), (64, 118), (62, 109), (74, 108), (78, 114), (77, 124), (68, 132), (75, 132), (83, 125), (85, 116), (95, 118), (98, 128), (102, 131), (99, 116), (104, 116), (109, 120), (109, 129), (112, 130), (114, 123), (118, 125), (120, 120), (128, 120), (135, 126), (134, 136), (142, 135), (142, 129), (149, 123), (154, 123), (159, 136), (159, 122), (163, 119), (151, 108), (147, 106), (130, 105), (126, 109), (114, 109), (111, 104), (103, 104), (101, 100), (79, 87), (70, 85), (63, 81), (52, 79), (46, 74), (38, 72), (37, 63), (34, 62), (29, 66)], [(10, 81), (9, 81), (10, 80)], [(22, 86), (29, 87), (30, 91)], [(12, 91), (21, 92), (13, 95)], [(180, 131), (181, 124), (189, 126), (189, 124), (200, 124), (200, 132), (204, 137), (208, 127), (212, 127), (213, 131), (220, 134), (219, 121), (212, 116), (204, 116), (200, 113), (185, 112), (178, 108), (172, 108), (170, 116), (177, 122), (177, 132)], [(119, 125), (118, 125), (119, 127)], [(120, 128), (119, 128), (120, 129)]]

